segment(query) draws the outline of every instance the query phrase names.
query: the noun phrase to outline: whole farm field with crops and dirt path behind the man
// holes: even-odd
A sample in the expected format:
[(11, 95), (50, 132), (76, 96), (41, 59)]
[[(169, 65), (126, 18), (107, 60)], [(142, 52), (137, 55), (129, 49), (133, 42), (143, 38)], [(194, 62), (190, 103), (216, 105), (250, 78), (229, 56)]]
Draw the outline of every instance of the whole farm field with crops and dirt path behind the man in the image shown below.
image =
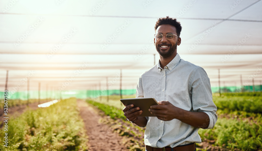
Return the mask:
[[(9, 147), (0, 150), (101, 150), (106, 145), (114, 150), (143, 150), (145, 128), (126, 120), (119, 99), (117, 95), (109, 96), (109, 101), (105, 96), (85, 102), (70, 98), (47, 108), (24, 110), (8, 119), (12, 121), (8, 122)], [(214, 95), (213, 101), (219, 118), (213, 129), (199, 130), (202, 143), (197, 150), (261, 151), (262, 96)], [(106, 144), (99, 148), (101, 142)]]

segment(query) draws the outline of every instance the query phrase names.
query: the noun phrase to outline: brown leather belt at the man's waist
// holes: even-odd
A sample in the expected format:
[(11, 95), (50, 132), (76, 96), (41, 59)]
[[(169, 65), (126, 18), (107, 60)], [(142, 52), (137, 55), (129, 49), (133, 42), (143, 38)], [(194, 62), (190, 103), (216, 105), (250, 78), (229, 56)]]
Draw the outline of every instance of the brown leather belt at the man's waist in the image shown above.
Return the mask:
[(177, 146), (174, 148), (171, 147), (164, 147), (164, 148), (155, 148), (155, 147), (150, 147), (146, 145), (146, 150), (148, 151), (194, 151), (196, 149), (195, 143), (190, 143), (187, 145), (181, 145)]

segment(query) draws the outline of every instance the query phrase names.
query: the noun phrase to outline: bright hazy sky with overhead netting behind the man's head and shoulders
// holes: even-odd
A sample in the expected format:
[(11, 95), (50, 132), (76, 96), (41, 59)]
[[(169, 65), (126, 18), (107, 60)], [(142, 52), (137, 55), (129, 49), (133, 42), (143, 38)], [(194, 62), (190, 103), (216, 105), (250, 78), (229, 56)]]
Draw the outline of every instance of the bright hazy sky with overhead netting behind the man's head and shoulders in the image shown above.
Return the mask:
[[(262, 2), (0, 1), (0, 89), (19, 91), (133, 89), (159, 60), (153, 44), (158, 18), (181, 22), (182, 59), (203, 67), (211, 86), (261, 85)], [(155, 54), (155, 59), (154, 59)]]

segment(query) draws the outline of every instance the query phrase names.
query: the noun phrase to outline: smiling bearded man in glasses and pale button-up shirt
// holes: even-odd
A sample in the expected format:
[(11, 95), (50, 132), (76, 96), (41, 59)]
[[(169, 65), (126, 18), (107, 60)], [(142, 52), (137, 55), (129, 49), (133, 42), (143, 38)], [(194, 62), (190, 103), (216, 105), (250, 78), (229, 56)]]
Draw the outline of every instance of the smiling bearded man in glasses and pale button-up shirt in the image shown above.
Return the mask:
[(156, 117), (140, 117), (143, 111), (127, 105), (124, 115), (145, 127), (147, 151), (196, 150), (199, 128), (211, 129), (217, 121), (209, 78), (205, 70), (177, 54), (181, 44), (181, 25), (176, 19), (160, 18), (155, 25), (154, 44), (160, 60), (144, 72), (137, 84), (136, 97), (150, 97), (160, 105), (149, 109)]

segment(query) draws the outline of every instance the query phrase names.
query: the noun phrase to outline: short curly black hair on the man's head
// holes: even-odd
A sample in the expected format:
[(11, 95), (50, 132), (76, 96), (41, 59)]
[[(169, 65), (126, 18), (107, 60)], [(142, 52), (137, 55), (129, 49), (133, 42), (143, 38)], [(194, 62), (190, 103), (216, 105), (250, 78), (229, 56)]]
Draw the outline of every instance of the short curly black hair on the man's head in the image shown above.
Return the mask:
[(157, 27), (159, 27), (160, 25), (163, 24), (168, 24), (168, 25), (172, 25), (174, 27), (176, 27), (176, 32), (177, 32), (177, 36), (180, 36), (180, 32), (182, 30), (181, 24), (180, 22), (177, 21), (176, 18), (169, 18), (169, 16), (166, 16), (166, 18), (159, 18), (156, 22), (155, 25), (155, 31), (157, 29)]

